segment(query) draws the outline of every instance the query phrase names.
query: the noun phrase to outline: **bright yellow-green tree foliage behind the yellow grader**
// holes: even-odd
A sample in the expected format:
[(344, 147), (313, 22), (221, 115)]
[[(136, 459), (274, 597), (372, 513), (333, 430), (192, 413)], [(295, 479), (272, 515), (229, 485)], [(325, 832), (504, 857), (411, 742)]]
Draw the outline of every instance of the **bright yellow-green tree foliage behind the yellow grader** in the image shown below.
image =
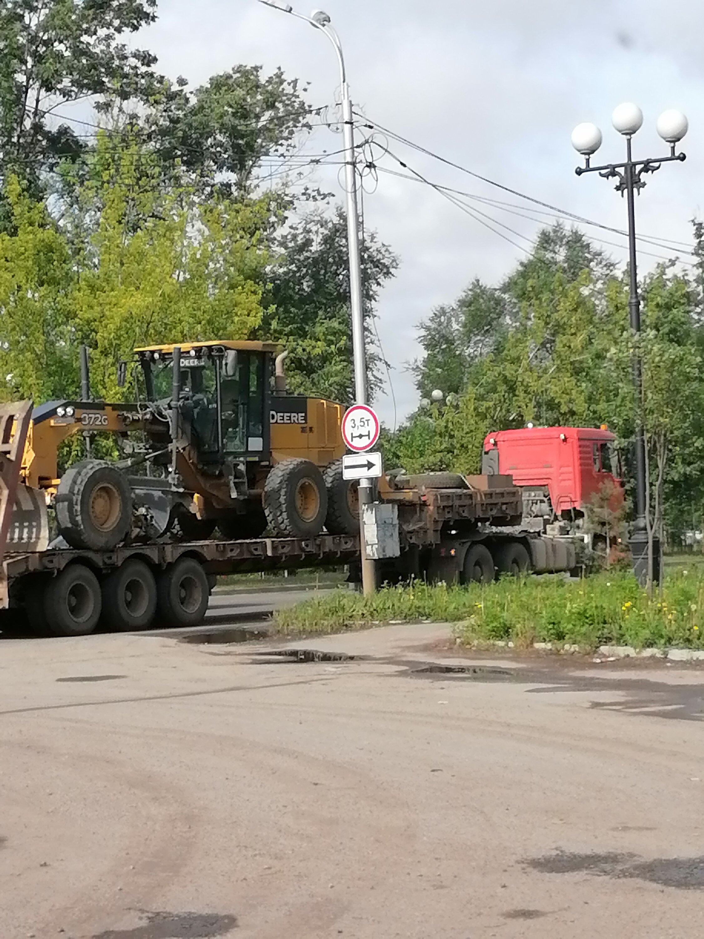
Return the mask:
[[(6, 397), (75, 395), (83, 342), (92, 350), (94, 392), (119, 400), (132, 390), (117, 388), (115, 362), (129, 359), (134, 346), (242, 339), (261, 320), (267, 204), (219, 199), (204, 206), (185, 189), (166, 199), (135, 196), (139, 153), (115, 155), (111, 145), (103, 156), (102, 183), (81, 192), (86, 213), (95, 215), (83, 241), (72, 241), (15, 177), (9, 180), (14, 234), (0, 237)], [(149, 217), (136, 230), (135, 198)]]

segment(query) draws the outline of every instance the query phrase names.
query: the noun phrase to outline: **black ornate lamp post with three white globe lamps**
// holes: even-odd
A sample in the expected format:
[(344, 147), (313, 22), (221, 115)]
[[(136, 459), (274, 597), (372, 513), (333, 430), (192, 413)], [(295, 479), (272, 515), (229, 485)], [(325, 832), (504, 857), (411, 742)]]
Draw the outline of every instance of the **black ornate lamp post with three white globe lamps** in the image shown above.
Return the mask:
[[(612, 123), (617, 131), (626, 138), (626, 160), (622, 163), (605, 163), (603, 166), (591, 166), (590, 158), (602, 145), (602, 132), (593, 124), (579, 124), (574, 128), (572, 143), (574, 149), (585, 157), (585, 166), (578, 166), (577, 176), (585, 173), (598, 173), (605, 179), (618, 179), (616, 191), (625, 192), (628, 203), (628, 252), (629, 252), (629, 298), (628, 310), (631, 330), (635, 336), (633, 359), (633, 381), (635, 389), (635, 522), (631, 534), (631, 552), (633, 554), (635, 576), (641, 585), (649, 579), (648, 558), (648, 504), (646, 478), (646, 440), (643, 424), (643, 373), (640, 335), (640, 296), (638, 294), (637, 253), (635, 244), (635, 193), (640, 193), (646, 185), (643, 177), (646, 173), (655, 173), (666, 162), (686, 160), (684, 153), (675, 153), (677, 144), (688, 130), (687, 118), (678, 111), (666, 111), (660, 115), (657, 130), (663, 140), (670, 145), (670, 155), (657, 160), (633, 159), (633, 135), (643, 124), (643, 115), (635, 104), (620, 104), (614, 111)], [(657, 573), (660, 559), (659, 539), (653, 538), (653, 576)]]

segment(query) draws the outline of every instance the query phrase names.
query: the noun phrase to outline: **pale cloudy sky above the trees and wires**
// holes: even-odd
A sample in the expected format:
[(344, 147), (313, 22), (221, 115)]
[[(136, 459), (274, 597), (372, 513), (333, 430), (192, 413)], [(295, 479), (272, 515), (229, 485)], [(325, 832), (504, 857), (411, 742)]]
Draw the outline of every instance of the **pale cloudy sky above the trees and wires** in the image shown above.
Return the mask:
[[(298, 11), (310, 13), (295, 4)], [(467, 169), (559, 208), (622, 228), (625, 206), (610, 184), (574, 176), (570, 134), (580, 121), (602, 127), (600, 157), (621, 159), (610, 125), (615, 105), (635, 100), (645, 115), (635, 153), (657, 156), (655, 132), (666, 108), (690, 119), (687, 162), (666, 165), (641, 195), (639, 231), (689, 240), (702, 212), (704, 173), (704, 4), (696, 0), (321, 0), (344, 44), (354, 100), (394, 133)], [(311, 83), (314, 106), (332, 104), (339, 83), (334, 54), (319, 33), (256, 0), (160, 0), (159, 22), (137, 45), (159, 55), (163, 72), (195, 86), (237, 63), (281, 65)], [(315, 131), (310, 153), (337, 149), (340, 138)], [(476, 195), (521, 204), (481, 181), (408, 147), (390, 148), (424, 177)], [(390, 170), (390, 157), (381, 163)], [(337, 167), (317, 181), (336, 189)], [(533, 218), (495, 206), (486, 212), (515, 244), (500, 238), (429, 187), (382, 174), (365, 197), (367, 224), (399, 254), (401, 267), (383, 293), (379, 331), (392, 375), (398, 419), (416, 407), (404, 362), (418, 354), (415, 325), (453, 300), (474, 278), (493, 283), (512, 268), (539, 228)], [(476, 210), (475, 208), (475, 210)], [(484, 221), (487, 221), (484, 219)], [(518, 235), (500, 228), (503, 223)], [(618, 235), (588, 229), (613, 241)], [(643, 245), (654, 254), (660, 248)], [(643, 255), (645, 268), (657, 263)], [(393, 423), (390, 397), (378, 402)]]

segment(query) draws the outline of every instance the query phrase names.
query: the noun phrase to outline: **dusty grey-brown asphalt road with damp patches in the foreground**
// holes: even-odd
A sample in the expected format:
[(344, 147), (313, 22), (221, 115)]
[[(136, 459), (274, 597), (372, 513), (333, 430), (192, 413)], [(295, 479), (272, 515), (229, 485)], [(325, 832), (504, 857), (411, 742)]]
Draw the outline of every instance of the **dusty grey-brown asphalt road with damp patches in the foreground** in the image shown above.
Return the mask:
[(2, 939), (704, 934), (704, 672), (448, 636), (3, 643)]

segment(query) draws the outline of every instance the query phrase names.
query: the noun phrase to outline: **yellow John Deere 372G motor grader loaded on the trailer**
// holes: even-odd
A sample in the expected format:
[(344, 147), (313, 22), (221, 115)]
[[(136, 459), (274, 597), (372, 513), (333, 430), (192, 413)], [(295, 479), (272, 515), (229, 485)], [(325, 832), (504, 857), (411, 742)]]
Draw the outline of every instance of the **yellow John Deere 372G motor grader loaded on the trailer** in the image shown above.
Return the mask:
[[(274, 344), (226, 340), (138, 348), (134, 402), (34, 408), (8, 550), (41, 549), (47, 504), (58, 535), (92, 550), (163, 536), (207, 540), (216, 527), (233, 540), (267, 529), (357, 533), (356, 493), (342, 474), (342, 408), (286, 393), (285, 355)], [(119, 385), (128, 370), (120, 362)], [(89, 454), (97, 434), (113, 436), (120, 458), (88, 455), (59, 475), (61, 444), (80, 434)]]

